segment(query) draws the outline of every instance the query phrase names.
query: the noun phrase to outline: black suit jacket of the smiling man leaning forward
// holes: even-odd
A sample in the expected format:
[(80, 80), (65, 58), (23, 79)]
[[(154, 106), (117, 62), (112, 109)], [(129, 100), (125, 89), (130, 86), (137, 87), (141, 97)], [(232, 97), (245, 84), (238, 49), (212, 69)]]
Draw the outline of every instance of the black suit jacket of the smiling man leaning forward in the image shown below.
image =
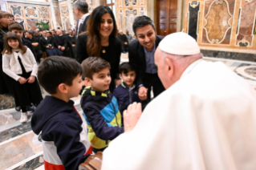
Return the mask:
[[(158, 47), (159, 42), (164, 37), (161, 35), (156, 35), (156, 48)], [(131, 63), (136, 68), (136, 86), (143, 84), (142, 78), (146, 73), (146, 58), (144, 53), (144, 47), (140, 45), (137, 39), (134, 39), (129, 43), (128, 46), (128, 58), (129, 63)]]

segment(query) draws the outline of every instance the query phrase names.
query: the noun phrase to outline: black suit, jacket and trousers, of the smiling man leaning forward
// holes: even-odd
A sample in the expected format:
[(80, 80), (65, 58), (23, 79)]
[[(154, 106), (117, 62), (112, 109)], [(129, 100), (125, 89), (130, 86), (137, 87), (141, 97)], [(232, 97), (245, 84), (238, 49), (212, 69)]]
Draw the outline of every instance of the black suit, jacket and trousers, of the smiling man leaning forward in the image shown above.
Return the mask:
[[(156, 48), (163, 38), (163, 36), (156, 35)], [(136, 86), (144, 85), (144, 87), (148, 88), (148, 101), (150, 101), (151, 87), (153, 87), (154, 97), (165, 91), (165, 87), (161, 83), (157, 73), (146, 73), (147, 63), (144, 47), (140, 45), (137, 39), (129, 43), (128, 52), (129, 63), (136, 68)]]

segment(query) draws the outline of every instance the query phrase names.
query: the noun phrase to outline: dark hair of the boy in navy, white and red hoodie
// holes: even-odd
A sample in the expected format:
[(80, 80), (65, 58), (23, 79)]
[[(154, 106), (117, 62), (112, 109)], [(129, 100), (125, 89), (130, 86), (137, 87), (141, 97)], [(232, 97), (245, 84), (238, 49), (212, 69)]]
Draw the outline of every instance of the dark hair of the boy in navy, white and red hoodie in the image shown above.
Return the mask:
[(61, 83), (72, 85), (77, 75), (82, 75), (83, 68), (75, 59), (51, 56), (39, 65), (38, 79), (41, 86), (51, 95), (57, 92)]

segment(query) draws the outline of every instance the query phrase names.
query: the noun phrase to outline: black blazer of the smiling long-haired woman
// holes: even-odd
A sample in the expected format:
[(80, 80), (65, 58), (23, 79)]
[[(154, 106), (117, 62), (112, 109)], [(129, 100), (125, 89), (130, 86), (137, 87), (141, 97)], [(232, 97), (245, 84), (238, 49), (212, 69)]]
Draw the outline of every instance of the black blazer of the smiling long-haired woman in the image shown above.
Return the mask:
[[(89, 55), (87, 54), (87, 34), (80, 34), (76, 41), (75, 46), (75, 59), (82, 63), (84, 59), (87, 59)], [(116, 37), (110, 37), (109, 38), (109, 46), (108, 51), (106, 51), (106, 54), (110, 56), (108, 59), (105, 59), (110, 63), (111, 65), (111, 75), (112, 75), (112, 81), (114, 79), (119, 79), (119, 64), (120, 64), (120, 56), (121, 56), (121, 44), (119, 38)], [(104, 54), (104, 55), (106, 55)], [(102, 52), (101, 52), (102, 55)], [(104, 59), (104, 58), (103, 58)]]

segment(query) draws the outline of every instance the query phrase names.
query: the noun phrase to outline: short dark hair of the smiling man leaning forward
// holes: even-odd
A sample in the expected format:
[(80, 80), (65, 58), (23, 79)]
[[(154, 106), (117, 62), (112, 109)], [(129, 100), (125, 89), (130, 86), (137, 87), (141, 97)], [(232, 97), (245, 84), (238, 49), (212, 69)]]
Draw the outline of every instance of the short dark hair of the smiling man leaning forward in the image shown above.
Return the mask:
[(132, 24), (132, 30), (133, 30), (134, 34), (136, 35), (137, 28), (147, 26), (148, 24), (151, 25), (154, 30), (156, 30), (156, 26), (155, 26), (154, 22), (151, 20), (151, 18), (144, 16), (144, 15), (140, 16), (140, 17), (136, 17)]

